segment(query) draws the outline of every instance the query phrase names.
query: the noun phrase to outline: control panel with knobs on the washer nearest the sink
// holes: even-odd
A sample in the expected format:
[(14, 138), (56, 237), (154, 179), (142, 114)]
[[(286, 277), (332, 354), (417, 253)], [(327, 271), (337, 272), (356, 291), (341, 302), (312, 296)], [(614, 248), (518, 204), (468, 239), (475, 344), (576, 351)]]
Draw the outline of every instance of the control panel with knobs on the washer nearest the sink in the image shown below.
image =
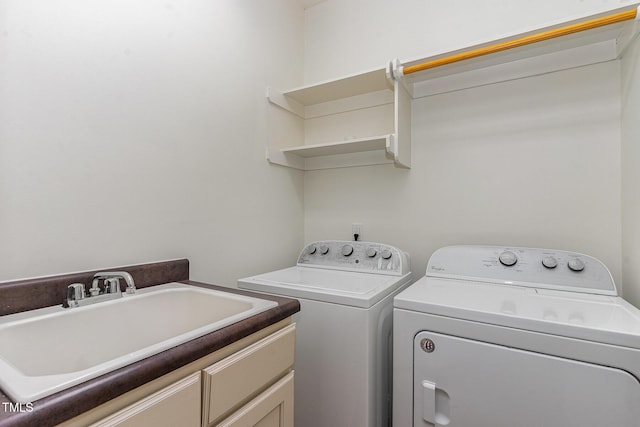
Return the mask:
[(358, 272), (404, 275), (409, 256), (383, 243), (323, 240), (305, 246), (298, 265)]

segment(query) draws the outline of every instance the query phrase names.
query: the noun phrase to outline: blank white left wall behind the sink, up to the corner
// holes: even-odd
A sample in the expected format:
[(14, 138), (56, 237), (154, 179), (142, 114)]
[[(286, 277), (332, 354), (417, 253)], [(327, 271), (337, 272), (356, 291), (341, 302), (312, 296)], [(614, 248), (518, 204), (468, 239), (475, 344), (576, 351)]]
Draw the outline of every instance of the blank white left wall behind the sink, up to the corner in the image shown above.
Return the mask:
[(302, 38), (295, 0), (0, 1), (0, 280), (289, 265), (303, 183), (265, 160), (264, 88), (301, 83)]

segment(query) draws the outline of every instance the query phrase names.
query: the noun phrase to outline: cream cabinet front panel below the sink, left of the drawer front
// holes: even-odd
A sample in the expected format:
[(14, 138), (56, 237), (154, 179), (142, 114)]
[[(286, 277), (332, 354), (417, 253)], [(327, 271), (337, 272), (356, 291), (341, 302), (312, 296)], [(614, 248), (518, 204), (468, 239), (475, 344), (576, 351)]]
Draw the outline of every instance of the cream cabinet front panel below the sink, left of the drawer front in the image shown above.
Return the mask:
[(200, 372), (153, 393), (92, 427), (200, 426)]

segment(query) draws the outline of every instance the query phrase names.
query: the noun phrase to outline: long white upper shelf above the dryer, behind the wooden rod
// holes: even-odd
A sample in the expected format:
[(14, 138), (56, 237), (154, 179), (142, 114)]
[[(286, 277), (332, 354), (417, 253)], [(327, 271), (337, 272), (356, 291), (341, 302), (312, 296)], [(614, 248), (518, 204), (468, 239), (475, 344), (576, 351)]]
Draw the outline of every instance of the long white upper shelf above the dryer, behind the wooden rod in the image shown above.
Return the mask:
[(444, 52), (405, 63), (394, 64), (394, 76), (404, 82), (413, 98), (452, 92), (502, 81), (525, 78), (569, 68), (619, 59), (638, 35), (638, 18), (617, 22), (536, 43), (464, 59), (405, 75), (407, 67), (430, 63), (443, 58), (465, 56), (488, 46), (507, 44), (514, 40), (548, 33), (559, 28), (600, 19), (621, 12), (636, 10), (640, 2), (618, 9), (552, 22), (541, 28), (474, 43), (451, 52)]

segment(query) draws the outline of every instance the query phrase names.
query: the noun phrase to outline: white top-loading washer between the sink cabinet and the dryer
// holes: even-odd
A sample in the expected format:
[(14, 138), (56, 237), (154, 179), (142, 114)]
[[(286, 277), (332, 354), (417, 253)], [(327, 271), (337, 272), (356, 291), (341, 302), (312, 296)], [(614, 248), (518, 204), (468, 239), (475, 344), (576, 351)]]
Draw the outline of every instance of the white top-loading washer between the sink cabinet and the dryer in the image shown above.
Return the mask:
[(393, 297), (411, 279), (407, 254), (370, 242), (307, 245), (295, 267), (238, 286), (300, 301), (295, 425), (388, 426)]

